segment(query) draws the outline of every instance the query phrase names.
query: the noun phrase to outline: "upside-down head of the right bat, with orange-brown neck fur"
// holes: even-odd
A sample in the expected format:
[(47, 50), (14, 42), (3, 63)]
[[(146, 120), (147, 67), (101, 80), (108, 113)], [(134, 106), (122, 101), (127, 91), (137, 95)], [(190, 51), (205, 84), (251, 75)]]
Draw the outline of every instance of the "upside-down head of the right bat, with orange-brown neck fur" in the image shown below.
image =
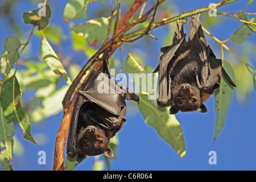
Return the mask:
[(178, 87), (178, 89), (174, 89), (174, 105), (169, 110), (170, 114), (176, 114), (179, 110), (182, 112), (199, 110), (202, 113), (207, 111), (201, 102), (200, 90), (197, 86), (181, 84)]

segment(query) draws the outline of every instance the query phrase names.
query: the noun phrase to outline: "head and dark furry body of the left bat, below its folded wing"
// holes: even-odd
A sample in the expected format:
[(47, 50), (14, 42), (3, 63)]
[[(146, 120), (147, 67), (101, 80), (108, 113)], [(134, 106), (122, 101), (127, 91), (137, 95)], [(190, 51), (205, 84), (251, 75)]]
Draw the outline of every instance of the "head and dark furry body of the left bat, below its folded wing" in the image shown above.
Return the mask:
[(81, 106), (76, 132), (77, 160), (81, 160), (85, 155), (92, 156), (102, 153), (109, 157), (113, 156), (112, 150), (109, 148), (109, 140), (121, 129), (126, 119), (122, 119), (122, 124), (117, 126), (117, 129), (108, 130), (106, 120), (109, 118), (107, 117), (118, 119), (114, 114), (94, 103), (86, 102)]

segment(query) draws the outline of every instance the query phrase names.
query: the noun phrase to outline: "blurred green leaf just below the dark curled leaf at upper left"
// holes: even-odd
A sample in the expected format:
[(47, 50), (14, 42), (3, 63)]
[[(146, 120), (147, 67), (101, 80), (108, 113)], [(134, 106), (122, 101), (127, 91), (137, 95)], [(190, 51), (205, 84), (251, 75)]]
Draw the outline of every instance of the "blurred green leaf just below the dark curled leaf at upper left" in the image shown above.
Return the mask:
[[(51, 40), (52, 43), (59, 44), (61, 40), (61, 29), (55, 26), (48, 26), (44, 28), (43, 34), (47, 39)], [(43, 37), (42, 33), (38, 30), (35, 32), (36, 35)]]

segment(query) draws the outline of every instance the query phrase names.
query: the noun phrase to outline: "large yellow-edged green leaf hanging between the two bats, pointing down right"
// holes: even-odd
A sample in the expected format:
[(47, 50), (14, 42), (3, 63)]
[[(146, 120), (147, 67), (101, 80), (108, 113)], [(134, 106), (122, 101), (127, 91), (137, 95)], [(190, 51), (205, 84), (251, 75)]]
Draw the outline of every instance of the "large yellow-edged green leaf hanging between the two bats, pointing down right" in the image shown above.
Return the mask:
[[(133, 67), (130, 67), (133, 64), (129, 63), (132, 62), (126, 63), (126, 70), (133, 72)], [(139, 67), (141, 66), (139, 65)], [(135, 84), (140, 85), (141, 87), (139, 92), (144, 93), (138, 94), (137, 91), (135, 92), (139, 96), (139, 110), (145, 118), (145, 122), (154, 127), (158, 131), (160, 137), (162, 137), (167, 143), (171, 144), (172, 148), (174, 148), (174, 150), (183, 157), (185, 155), (185, 143), (180, 123), (177, 121), (175, 115), (168, 114), (170, 107), (159, 107), (155, 103), (157, 77), (155, 74), (152, 74), (153, 71), (154, 69), (147, 65), (141, 67), (139, 75), (133, 76)], [(152, 77), (151, 79), (150, 76)], [(136, 81), (139, 77), (141, 78), (141, 82)], [(154, 93), (153, 96), (152, 93)]]

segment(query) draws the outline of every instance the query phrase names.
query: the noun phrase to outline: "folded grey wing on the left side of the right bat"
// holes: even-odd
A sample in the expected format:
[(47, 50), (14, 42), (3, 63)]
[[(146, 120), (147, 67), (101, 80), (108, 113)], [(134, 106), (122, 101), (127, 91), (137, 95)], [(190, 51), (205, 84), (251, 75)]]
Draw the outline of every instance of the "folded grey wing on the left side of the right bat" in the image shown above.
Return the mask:
[(171, 100), (171, 77), (167, 77), (167, 66), (175, 56), (175, 52), (183, 42), (185, 34), (173, 43), (171, 46), (161, 48), (160, 64), (159, 64), (159, 90), (158, 105), (164, 107)]

